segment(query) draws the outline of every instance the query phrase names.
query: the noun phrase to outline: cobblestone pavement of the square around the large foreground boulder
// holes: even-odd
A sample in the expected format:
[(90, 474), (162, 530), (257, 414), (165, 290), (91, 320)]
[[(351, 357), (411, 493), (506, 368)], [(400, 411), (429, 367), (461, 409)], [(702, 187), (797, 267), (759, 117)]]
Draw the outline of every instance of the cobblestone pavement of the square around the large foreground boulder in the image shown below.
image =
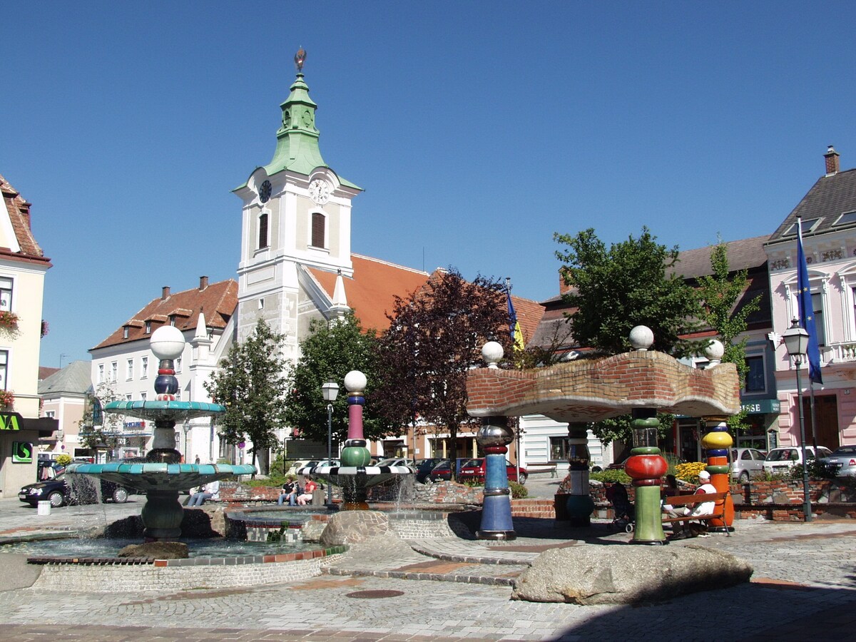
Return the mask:
[[(631, 537), (603, 525), (562, 529), (547, 521), (515, 520), (523, 537), (507, 543), (442, 538), (411, 543), (417, 550), (363, 547), (338, 563), (336, 574), (282, 586), (163, 594), (0, 591), (0, 639), (854, 639), (854, 522), (739, 521), (732, 537), (670, 544), (745, 558), (755, 574), (744, 586), (639, 607), (511, 601), (510, 586), (490, 578), (513, 578), (545, 548)], [(694, 611), (705, 615), (689, 615)]]

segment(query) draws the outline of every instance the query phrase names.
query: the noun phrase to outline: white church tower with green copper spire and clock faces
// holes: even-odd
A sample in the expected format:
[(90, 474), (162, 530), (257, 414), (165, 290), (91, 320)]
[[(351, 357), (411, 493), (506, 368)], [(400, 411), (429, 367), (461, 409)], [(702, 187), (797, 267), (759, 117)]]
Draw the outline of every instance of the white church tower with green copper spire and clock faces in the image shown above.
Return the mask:
[(239, 340), (259, 317), (286, 336), (284, 356), (296, 359), (311, 318), (335, 318), (310, 269), (353, 276), (351, 200), (362, 190), (321, 157), (315, 112), (303, 80), (306, 51), (294, 56), (297, 75), (282, 108), (276, 150), (234, 193), (243, 201), (238, 266)]

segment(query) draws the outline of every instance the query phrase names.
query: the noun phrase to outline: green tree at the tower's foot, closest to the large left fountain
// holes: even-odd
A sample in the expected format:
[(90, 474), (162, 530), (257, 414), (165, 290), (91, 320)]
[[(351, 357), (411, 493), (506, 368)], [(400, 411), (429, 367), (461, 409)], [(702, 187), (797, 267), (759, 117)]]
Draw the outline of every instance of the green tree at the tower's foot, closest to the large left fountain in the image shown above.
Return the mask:
[(284, 342), (284, 335), (259, 318), (250, 336), (232, 344), (205, 383), (211, 399), (226, 407), (218, 418), (220, 437), (231, 444), (249, 438), (253, 465), (259, 458), (266, 467), (269, 449), (278, 445), (275, 431), (286, 425)]

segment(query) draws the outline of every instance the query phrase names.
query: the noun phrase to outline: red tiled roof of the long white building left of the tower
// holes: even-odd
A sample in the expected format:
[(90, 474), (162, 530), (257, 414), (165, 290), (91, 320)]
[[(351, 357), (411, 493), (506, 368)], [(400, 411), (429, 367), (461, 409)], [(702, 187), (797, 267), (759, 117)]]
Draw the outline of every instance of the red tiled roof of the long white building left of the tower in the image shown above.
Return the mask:
[[(211, 283), (203, 289), (193, 288), (169, 294), (166, 298), (161, 296), (153, 299), (92, 350), (148, 339), (151, 334), (146, 334), (143, 321), (152, 321), (153, 332), (160, 325), (169, 323), (170, 314), (175, 314), (175, 327), (179, 330), (195, 330), (200, 311), (205, 314), (206, 326), (223, 330), (237, 305), (238, 282), (234, 279)], [(124, 338), (125, 326), (128, 326), (127, 339)]]

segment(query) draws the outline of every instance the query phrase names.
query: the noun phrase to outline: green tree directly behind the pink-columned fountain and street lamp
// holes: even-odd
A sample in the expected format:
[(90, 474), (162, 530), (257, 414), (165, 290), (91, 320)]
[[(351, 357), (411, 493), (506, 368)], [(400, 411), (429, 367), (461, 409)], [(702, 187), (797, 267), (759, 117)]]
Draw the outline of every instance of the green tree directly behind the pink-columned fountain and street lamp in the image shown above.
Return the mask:
[(373, 402), (379, 379), (377, 350), (376, 332), (364, 330), (353, 313), (338, 321), (313, 320), (309, 336), (300, 343), (300, 360), (288, 376), (285, 413), (288, 425), (297, 428), (300, 437), (327, 443), (327, 402), (321, 394), (321, 385), (335, 381), (339, 384), (339, 395), (333, 402), (333, 443), (342, 443), (348, 437), (348, 391), (344, 378), (348, 372), (359, 370), (367, 380), (363, 413), (366, 439), (396, 434), (400, 425), (390, 424)]

